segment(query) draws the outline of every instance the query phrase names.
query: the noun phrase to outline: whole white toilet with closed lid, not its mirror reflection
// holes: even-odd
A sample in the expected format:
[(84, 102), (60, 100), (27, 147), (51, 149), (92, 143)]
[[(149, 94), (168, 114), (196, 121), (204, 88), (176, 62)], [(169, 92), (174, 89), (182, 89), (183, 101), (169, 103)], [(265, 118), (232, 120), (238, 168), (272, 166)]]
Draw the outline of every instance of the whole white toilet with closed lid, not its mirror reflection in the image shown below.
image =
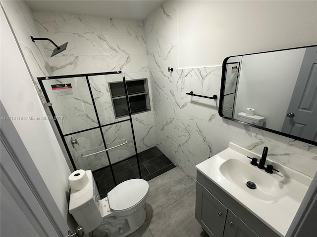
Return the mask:
[(85, 172), (89, 183), (81, 190), (71, 189), (68, 208), (85, 233), (94, 231), (98, 236), (124, 237), (143, 225), (146, 219), (144, 204), (149, 194), (147, 181), (124, 181), (100, 199), (92, 171)]

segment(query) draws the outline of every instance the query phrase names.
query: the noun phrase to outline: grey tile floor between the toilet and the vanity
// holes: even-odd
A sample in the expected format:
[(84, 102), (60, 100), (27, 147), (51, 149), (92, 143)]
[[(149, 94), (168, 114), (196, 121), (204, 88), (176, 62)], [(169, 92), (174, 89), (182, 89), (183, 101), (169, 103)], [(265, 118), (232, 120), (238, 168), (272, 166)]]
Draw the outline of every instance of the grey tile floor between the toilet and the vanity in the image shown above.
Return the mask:
[(192, 179), (175, 167), (148, 182), (146, 222), (128, 237), (208, 237), (195, 219)]

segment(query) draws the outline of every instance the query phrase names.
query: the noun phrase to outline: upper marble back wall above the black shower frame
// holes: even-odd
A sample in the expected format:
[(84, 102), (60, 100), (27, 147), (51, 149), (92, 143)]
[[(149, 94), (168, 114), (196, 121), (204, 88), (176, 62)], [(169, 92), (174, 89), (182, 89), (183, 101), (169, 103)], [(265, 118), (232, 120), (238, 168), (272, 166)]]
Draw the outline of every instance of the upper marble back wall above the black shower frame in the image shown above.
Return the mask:
[[(142, 21), (60, 12), (32, 14), (41, 37), (58, 45), (68, 41), (67, 49), (50, 59), (54, 76), (124, 70), (136, 77), (135, 73), (148, 72)], [(54, 46), (43, 42), (49, 57)]]

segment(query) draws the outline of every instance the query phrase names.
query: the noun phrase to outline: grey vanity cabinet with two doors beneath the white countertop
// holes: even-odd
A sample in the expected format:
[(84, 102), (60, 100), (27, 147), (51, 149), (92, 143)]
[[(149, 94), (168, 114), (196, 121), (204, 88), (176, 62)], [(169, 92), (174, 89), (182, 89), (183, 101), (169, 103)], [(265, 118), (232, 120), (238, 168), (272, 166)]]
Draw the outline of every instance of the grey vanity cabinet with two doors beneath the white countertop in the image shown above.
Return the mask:
[(200, 171), (195, 217), (210, 237), (279, 237)]

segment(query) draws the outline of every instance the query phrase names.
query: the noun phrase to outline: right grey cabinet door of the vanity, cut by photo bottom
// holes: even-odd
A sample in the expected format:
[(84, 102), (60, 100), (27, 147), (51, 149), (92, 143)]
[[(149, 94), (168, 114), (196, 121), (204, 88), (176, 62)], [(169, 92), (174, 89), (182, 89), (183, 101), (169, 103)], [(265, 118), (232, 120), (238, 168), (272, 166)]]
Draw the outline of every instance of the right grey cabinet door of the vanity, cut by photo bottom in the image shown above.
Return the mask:
[(223, 237), (259, 237), (233, 212), (228, 210)]

